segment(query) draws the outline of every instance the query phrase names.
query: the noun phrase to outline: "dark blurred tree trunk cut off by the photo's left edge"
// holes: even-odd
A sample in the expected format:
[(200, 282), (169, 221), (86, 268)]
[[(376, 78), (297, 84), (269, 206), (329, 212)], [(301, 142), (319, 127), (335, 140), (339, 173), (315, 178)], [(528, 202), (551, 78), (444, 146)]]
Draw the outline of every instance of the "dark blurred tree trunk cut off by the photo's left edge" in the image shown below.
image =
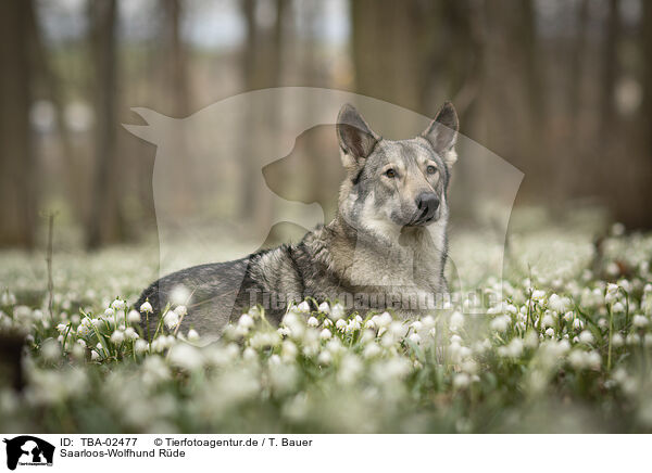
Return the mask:
[(0, 2), (0, 246), (34, 247), (36, 159), (30, 143), (32, 0)]

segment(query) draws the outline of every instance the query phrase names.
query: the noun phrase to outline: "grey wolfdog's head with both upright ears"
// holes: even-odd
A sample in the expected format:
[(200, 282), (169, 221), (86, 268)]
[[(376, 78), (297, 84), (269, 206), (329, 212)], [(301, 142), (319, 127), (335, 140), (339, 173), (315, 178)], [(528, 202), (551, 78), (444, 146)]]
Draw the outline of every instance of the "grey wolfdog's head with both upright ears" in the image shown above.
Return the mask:
[(457, 114), (448, 102), (422, 135), (399, 141), (383, 139), (352, 105), (342, 106), (337, 119), (347, 169), (341, 216), (355, 228), (387, 235), (444, 222), (457, 129)]

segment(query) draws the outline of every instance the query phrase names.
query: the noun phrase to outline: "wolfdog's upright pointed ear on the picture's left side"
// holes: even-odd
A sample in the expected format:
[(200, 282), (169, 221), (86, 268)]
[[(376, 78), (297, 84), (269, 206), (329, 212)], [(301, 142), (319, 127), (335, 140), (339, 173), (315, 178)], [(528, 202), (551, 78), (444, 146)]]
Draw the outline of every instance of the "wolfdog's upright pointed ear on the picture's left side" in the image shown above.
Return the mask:
[(380, 137), (372, 131), (360, 112), (346, 103), (337, 116), (337, 138), (346, 168), (360, 167), (372, 154)]

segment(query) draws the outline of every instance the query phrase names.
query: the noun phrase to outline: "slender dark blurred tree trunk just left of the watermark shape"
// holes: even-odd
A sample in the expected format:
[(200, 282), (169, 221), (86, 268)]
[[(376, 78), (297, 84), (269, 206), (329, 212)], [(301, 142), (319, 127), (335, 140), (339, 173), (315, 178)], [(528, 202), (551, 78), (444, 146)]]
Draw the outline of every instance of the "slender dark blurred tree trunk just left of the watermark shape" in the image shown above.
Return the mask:
[(117, 72), (116, 0), (92, 1), (90, 7), (92, 66), (95, 71), (96, 169), (87, 247), (97, 248), (122, 239), (121, 171), (116, 158)]

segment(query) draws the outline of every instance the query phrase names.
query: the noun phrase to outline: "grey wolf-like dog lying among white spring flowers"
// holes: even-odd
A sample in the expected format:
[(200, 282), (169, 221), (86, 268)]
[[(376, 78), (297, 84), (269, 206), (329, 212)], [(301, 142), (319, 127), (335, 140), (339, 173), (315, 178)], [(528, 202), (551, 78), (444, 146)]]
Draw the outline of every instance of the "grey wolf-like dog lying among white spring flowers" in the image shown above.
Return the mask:
[(160, 314), (183, 287), (190, 297), (181, 328), (220, 333), (259, 304), (278, 323), (289, 304), (303, 299), (313, 309), (339, 301), (347, 309), (410, 317), (424, 311), (419, 301), (447, 295), (447, 193), (459, 132), (453, 105), (444, 103), (419, 136), (393, 141), (344, 104), (336, 132), (347, 177), (333, 221), (297, 244), (165, 276), (142, 292), (136, 308), (149, 302)]

